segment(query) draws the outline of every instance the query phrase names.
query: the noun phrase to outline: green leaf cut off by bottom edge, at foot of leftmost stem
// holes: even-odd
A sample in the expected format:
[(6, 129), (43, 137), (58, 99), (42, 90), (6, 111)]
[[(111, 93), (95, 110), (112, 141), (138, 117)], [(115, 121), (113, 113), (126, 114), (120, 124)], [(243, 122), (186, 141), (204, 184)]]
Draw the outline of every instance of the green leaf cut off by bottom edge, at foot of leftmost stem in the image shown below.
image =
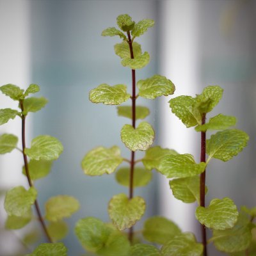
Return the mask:
[(63, 243), (43, 243), (36, 247), (28, 256), (68, 256), (67, 248)]

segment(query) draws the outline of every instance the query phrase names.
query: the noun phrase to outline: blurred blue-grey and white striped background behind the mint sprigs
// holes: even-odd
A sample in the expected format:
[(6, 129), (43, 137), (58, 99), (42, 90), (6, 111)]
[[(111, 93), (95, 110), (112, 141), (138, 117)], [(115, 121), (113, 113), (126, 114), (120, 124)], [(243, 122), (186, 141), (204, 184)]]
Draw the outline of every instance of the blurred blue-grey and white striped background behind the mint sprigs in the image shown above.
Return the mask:
[[(79, 218), (95, 216), (109, 221), (107, 207), (117, 193), (128, 193), (118, 185), (115, 175), (88, 177), (81, 170), (84, 155), (99, 145), (118, 145), (122, 156), (129, 151), (120, 140), (120, 129), (130, 121), (116, 115), (115, 106), (92, 104), (88, 93), (101, 83), (127, 84), (131, 91), (131, 70), (120, 65), (113, 45), (120, 38), (100, 36), (115, 26), (116, 17), (128, 13), (138, 22), (154, 19), (156, 25), (138, 39), (150, 54), (150, 64), (136, 72), (137, 79), (161, 74), (176, 86), (175, 97), (201, 93), (207, 85), (224, 88), (223, 99), (214, 109), (237, 117), (237, 128), (250, 135), (250, 142), (239, 156), (228, 163), (212, 161), (207, 169), (207, 204), (212, 198), (230, 196), (237, 206), (256, 205), (255, 174), (255, 97), (256, 97), (256, 1), (255, 0), (0, 0), (0, 85), (13, 83), (26, 88), (40, 85), (49, 104), (28, 117), (27, 144), (31, 138), (49, 134), (65, 148), (54, 163), (51, 174), (36, 181), (38, 201), (54, 195), (72, 195), (81, 203), (68, 225), (63, 243), (68, 255), (82, 255), (74, 236)], [(200, 159), (200, 134), (186, 129), (171, 112), (168, 99), (138, 100), (148, 106), (148, 122), (154, 126), (154, 145), (174, 148)], [(0, 108), (17, 108), (0, 95)], [(211, 117), (211, 116), (210, 116)], [(0, 127), (0, 133), (20, 136), (20, 120)], [(104, 127), (104, 129), (102, 129)], [(209, 136), (209, 134), (208, 134)], [(137, 154), (138, 157), (143, 154)], [(14, 186), (28, 186), (21, 174), (22, 156), (12, 152), (0, 156), (0, 255), (26, 254), (19, 242), (36, 224), (19, 231), (4, 230), (4, 193)], [(147, 211), (136, 225), (140, 229), (148, 216), (161, 214), (174, 220), (184, 231), (195, 232), (196, 204), (175, 200), (168, 180), (154, 172), (145, 188), (136, 189), (147, 202)], [(208, 236), (211, 236), (209, 234)], [(43, 238), (41, 241), (44, 241)], [(210, 255), (223, 255), (211, 245)]]

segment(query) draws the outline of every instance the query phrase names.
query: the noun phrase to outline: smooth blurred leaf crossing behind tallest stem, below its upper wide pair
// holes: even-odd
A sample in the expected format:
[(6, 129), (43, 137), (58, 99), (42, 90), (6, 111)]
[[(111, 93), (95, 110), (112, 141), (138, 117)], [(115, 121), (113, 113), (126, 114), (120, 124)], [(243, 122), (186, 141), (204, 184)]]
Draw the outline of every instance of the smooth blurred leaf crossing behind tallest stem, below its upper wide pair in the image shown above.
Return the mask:
[[(124, 116), (132, 119), (132, 107), (131, 106), (118, 106), (117, 115)], [(144, 119), (149, 115), (149, 109), (142, 106), (136, 106), (135, 119)]]

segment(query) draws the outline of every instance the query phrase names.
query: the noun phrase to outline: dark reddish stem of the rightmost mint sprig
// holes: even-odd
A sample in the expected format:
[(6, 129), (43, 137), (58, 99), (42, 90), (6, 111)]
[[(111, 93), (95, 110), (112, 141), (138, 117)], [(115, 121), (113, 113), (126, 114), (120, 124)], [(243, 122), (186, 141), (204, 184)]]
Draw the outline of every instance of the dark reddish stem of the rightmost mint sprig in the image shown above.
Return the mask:
[[(202, 125), (205, 124), (205, 113), (202, 115)], [(206, 132), (201, 132), (201, 157), (200, 161), (205, 163), (205, 135)], [(205, 171), (200, 175), (200, 206), (205, 207)], [(204, 246), (204, 256), (207, 256), (207, 238), (205, 225), (201, 225), (202, 244)]]

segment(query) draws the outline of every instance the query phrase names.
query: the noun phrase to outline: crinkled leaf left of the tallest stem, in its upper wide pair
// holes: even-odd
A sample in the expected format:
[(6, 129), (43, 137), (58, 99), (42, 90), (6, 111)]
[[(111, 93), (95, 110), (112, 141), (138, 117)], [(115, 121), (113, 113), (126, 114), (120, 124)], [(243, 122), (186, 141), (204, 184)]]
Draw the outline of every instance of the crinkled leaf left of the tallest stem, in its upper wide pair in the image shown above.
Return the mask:
[(90, 91), (89, 99), (93, 103), (103, 103), (106, 105), (119, 105), (128, 100), (131, 95), (126, 92), (124, 84), (109, 86), (100, 84), (97, 88)]

